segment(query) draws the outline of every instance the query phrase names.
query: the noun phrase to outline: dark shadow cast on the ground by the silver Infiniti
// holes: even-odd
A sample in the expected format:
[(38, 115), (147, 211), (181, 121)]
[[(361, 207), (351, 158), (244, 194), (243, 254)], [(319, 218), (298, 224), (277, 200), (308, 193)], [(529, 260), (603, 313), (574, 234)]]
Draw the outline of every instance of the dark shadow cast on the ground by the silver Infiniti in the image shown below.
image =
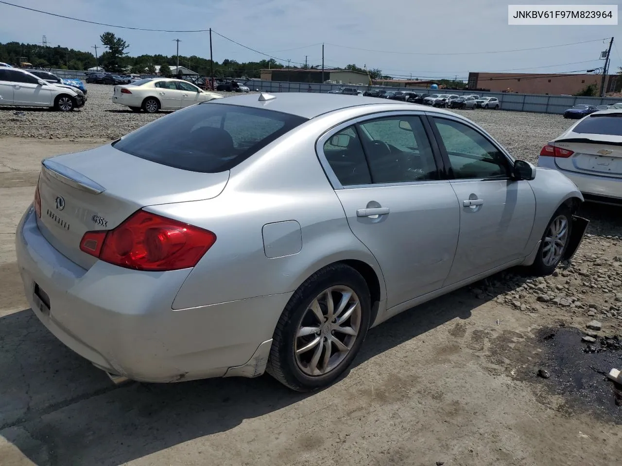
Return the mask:
[[(352, 368), (470, 318), (481, 303), (463, 289), (389, 319), (369, 331)], [(125, 464), (318, 396), (290, 391), (268, 375), (117, 387), (30, 309), (0, 318), (0, 371), (0, 436), (38, 465)]]

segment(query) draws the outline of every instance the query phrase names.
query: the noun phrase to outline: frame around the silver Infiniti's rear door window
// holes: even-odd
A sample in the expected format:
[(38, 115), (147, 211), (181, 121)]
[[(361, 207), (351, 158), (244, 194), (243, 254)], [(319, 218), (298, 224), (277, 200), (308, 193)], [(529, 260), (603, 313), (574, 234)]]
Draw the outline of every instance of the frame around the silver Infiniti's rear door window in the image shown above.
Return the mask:
[[(420, 117), (421, 123), (425, 130), (425, 134), (427, 135), (429, 143), (430, 143), (430, 148), (432, 148), (432, 156), (434, 157), (434, 162), (436, 163), (436, 166), (437, 166), (437, 170), (439, 173), (439, 179), (438, 180), (402, 181), (400, 183), (370, 183), (366, 185), (348, 185), (348, 186), (341, 185), (341, 182), (338, 180), (337, 175), (335, 175), (335, 172), (333, 171), (332, 167), (330, 167), (330, 163), (328, 163), (328, 159), (324, 153), (324, 144), (335, 134), (337, 134), (343, 129), (346, 129), (349, 126), (354, 126), (358, 134), (358, 132), (361, 129), (360, 124), (366, 121), (377, 120), (379, 118), (386, 118), (386, 117), (393, 117), (393, 116), (402, 116), (402, 117), (418, 116)], [(441, 157), (440, 148), (439, 148), (439, 145), (437, 144), (437, 140), (435, 139), (435, 135), (433, 134), (432, 128), (430, 127), (430, 124), (427, 121), (427, 118), (425, 116), (426, 116), (426, 112), (420, 111), (420, 110), (381, 111), (381, 112), (374, 112), (374, 113), (348, 119), (346, 121), (341, 122), (340, 124), (336, 126), (331, 127), (328, 130), (325, 130), (325, 132), (323, 132), (322, 135), (320, 135), (320, 137), (318, 137), (318, 139), (315, 142), (315, 154), (317, 155), (317, 158), (320, 161), (320, 165), (322, 165), (322, 170), (324, 170), (324, 173), (326, 174), (328, 181), (333, 186), (333, 189), (334, 190), (353, 190), (353, 189), (360, 189), (360, 188), (380, 188), (382, 186), (412, 186), (412, 185), (429, 185), (430, 183), (447, 183), (446, 165), (445, 165), (444, 160)], [(364, 147), (363, 147), (363, 153), (365, 154), (365, 160), (367, 161), (367, 153), (365, 152)]]

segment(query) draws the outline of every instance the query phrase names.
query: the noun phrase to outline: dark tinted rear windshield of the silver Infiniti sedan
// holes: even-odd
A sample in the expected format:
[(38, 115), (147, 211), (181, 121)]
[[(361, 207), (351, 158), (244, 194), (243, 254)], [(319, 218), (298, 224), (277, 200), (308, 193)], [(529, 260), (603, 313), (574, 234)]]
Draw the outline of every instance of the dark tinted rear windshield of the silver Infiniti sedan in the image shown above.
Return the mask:
[(143, 126), (113, 144), (136, 157), (182, 170), (230, 170), (306, 118), (266, 109), (205, 103)]

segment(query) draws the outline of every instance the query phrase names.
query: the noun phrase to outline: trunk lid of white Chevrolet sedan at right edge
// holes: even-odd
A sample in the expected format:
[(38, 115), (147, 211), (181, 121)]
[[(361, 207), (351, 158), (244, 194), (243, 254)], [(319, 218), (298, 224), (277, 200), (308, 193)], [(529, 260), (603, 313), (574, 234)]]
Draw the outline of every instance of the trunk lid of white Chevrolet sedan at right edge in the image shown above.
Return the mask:
[[(621, 121), (622, 124), (622, 121)], [(553, 144), (574, 153), (555, 158), (562, 170), (622, 178), (622, 137), (603, 134), (569, 134)]]

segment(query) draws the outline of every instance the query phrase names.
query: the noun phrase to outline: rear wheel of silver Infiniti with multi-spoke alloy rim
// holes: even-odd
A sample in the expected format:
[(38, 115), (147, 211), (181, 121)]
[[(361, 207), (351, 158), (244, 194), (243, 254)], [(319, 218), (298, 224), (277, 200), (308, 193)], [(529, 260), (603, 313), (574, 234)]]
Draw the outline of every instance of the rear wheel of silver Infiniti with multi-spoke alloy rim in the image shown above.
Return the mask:
[(322, 268), (285, 306), (266, 372), (296, 391), (330, 385), (356, 357), (370, 319), (371, 298), (363, 276), (343, 263)]

